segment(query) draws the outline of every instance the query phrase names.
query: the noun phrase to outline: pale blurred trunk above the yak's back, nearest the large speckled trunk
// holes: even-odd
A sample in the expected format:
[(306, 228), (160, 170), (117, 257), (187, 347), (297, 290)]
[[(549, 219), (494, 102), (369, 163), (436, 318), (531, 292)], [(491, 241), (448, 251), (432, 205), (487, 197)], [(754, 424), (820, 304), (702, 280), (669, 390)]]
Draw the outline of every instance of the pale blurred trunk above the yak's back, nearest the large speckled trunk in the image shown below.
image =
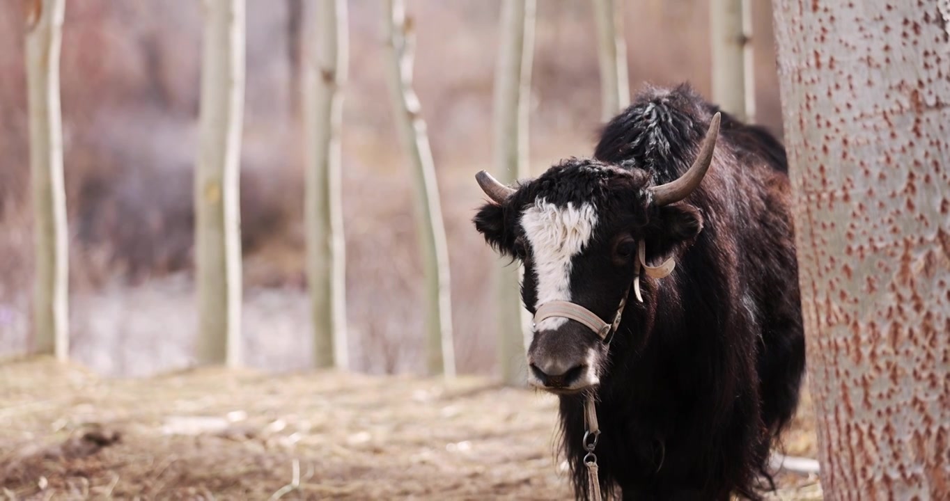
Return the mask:
[(710, 4), (712, 101), (741, 121), (755, 119), (755, 65), (752, 60), (750, 0)]

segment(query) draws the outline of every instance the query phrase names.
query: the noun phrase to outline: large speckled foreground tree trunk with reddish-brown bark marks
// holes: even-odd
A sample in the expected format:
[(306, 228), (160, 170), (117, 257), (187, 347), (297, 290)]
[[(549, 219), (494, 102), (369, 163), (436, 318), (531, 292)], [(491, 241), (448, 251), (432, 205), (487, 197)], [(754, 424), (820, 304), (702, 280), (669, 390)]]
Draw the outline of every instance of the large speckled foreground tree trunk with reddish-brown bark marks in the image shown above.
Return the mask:
[(950, 499), (950, 4), (774, 0), (829, 499)]

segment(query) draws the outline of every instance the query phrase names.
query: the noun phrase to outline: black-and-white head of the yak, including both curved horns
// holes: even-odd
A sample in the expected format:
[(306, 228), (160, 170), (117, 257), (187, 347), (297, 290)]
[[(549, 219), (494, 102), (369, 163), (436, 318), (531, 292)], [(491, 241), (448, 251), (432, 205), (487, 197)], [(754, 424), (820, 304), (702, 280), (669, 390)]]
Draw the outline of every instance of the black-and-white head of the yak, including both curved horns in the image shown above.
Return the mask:
[[(718, 125), (716, 114), (690, 169), (661, 185), (644, 170), (590, 158), (563, 160), (517, 188), (480, 172), (476, 179), (489, 201), (475, 227), (496, 251), (522, 263), (524, 307), (535, 314), (566, 302), (601, 324), (613, 323), (621, 300), (636, 301), (631, 284), (638, 263), (675, 257), (702, 230), (699, 210), (682, 200), (712, 162)], [(596, 386), (604, 377), (605, 339), (564, 316), (535, 323), (529, 382), (561, 395)]]

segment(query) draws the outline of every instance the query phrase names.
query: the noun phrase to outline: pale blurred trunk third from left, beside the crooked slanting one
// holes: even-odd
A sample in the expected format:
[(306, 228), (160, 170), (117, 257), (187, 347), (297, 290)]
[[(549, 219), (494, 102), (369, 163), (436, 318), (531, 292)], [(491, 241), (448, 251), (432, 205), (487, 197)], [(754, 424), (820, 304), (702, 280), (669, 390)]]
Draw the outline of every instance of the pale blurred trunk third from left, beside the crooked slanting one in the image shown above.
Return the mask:
[(347, 79), (346, 0), (318, 0), (307, 65), (307, 278), (314, 364), (348, 367), (340, 126)]

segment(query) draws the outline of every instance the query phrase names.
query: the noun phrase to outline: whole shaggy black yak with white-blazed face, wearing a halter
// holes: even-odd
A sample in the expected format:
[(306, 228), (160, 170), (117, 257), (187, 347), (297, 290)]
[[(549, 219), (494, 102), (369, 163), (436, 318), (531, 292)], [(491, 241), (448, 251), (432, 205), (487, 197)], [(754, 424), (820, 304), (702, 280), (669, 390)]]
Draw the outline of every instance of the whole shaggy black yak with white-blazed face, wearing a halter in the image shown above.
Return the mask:
[(536, 315), (527, 377), (559, 396), (577, 497), (590, 487), (590, 398), (603, 495), (774, 490), (769, 451), (805, 369), (779, 140), (689, 84), (650, 86), (603, 126), (592, 158), (515, 186), (476, 177), (488, 200), (475, 228), (523, 266), (523, 306)]

